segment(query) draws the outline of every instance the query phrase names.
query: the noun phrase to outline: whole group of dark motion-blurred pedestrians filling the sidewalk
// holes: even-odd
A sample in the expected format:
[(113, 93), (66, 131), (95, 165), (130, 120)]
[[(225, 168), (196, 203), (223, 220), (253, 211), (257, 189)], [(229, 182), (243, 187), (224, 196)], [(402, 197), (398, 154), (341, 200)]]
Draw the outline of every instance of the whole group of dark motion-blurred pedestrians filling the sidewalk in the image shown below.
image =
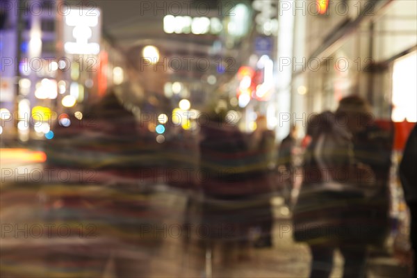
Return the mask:
[[(265, 116), (258, 115), (256, 131), (244, 133), (228, 122), (225, 111), (206, 113), (208, 120), (199, 126), (198, 136), (175, 131), (162, 144), (147, 126), (138, 124), (140, 113), (126, 107), (129, 101), (123, 96), (140, 99), (142, 112), (164, 101), (149, 101), (146, 90), (153, 89), (135, 88), (131, 83), (113, 88), (86, 108), (80, 124), (57, 125), (56, 138), (46, 149), (46, 167), (93, 169), (96, 173), (93, 185), (91, 180), (76, 180), (58, 186), (59, 190), (43, 188), (46, 195), (54, 197), (49, 200), (49, 218), (64, 222), (88, 218), (98, 225), (102, 236), (113, 240), (96, 252), (89, 250), (95, 264), (87, 263), (85, 268), (102, 272), (113, 258), (117, 277), (132, 273), (146, 276), (149, 261), (161, 243), (161, 238), (153, 236), (153, 229), (163, 225), (163, 215), (170, 214), (152, 208), (147, 201), (156, 184), (165, 183), (188, 195), (182, 224), (204, 227), (208, 236), (197, 241), (209, 254), (220, 256), (222, 263), (245, 259), (251, 248), (272, 247), (270, 201), (280, 196), (291, 208), (295, 241), (310, 247), (310, 277), (329, 277), (336, 249), (344, 257), (343, 277), (365, 277), (368, 247), (384, 245), (390, 229), (393, 126), (376, 122), (364, 99), (345, 97), (336, 111), (311, 117), (302, 147), (297, 137), (300, 126), (291, 126), (288, 136), (277, 145)], [(294, 159), (300, 153), (302, 165)], [(415, 160), (416, 129), (400, 167), (413, 217), (414, 248), (416, 171), (411, 165), (416, 165)], [(166, 177), (172, 170), (179, 171), (180, 176), (182, 173), (183, 178)], [(294, 198), (294, 177), (300, 171), (302, 184)], [(190, 172), (199, 175), (186, 175)], [(83, 183), (101, 186), (100, 193), (97, 188), (86, 192), (81, 189)], [(68, 186), (73, 190), (67, 190)], [(144, 224), (152, 224), (147, 236), (142, 234)], [(222, 251), (212, 253), (218, 250), (216, 245)], [(142, 256), (129, 253), (138, 250)], [(238, 252), (231, 254), (230, 250)], [(83, 273), (88, 276), (96, 272)]]

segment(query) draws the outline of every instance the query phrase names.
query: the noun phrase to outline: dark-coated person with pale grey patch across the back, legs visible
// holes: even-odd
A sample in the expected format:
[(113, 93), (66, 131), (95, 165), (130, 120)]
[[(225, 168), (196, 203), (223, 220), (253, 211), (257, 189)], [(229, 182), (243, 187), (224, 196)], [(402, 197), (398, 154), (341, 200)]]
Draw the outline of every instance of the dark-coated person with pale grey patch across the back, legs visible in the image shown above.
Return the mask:
[[(353, 137), (366, 128), (370, 108), (357, 96), (341, 99), (336, 113), (315, 119), (304, 161), (304, 181), (294, 208), (295, 240), (311, 249), (310, 277), (329, 277), (334, 250), (345, 259), (343, 277), (365, 277), (367, 245), (378, 219), (368, 202), (377, 194), (375, 173), (355, 159)], [(387, 212), (385, 212), (387, 213)]]

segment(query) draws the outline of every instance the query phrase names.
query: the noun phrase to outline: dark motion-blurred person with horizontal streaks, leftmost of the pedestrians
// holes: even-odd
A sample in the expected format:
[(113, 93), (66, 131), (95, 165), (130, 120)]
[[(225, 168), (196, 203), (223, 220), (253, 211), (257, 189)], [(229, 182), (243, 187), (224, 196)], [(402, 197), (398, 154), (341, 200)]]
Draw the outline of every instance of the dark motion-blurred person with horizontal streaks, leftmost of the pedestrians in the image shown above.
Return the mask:
[(60, 221), (95, 224), (102, 240), (99, 248), (91, 246), (85, 254), (64, 254), (66, 261), (77, 262), (74, 265), (90, 277), (103, 275), (106, 265), (113, 265), (117, 277), (147, 277), (161, 245), (162, 235), (155, 230), (163, 227), (162, 212), (152, 203), (151, 188), (162, 152), (149, 125), (154, 124), (152, 115), (159, 115), (166, 104), (160, 97), (161, 84), (148, 83), (143, 77), (160, 73), (140, 72), (136, 65), (140, 63), (140, 47), (131, 51), (137, 54), (137, 62), (129, 60), (129, 78), (86, 104), (81, 117), (70, 117), (65, 125), (58, 122), (53, 127), (55, 137), (46, 148), (48, 167), (90, 173), (90, 179), (72, 174), (77, 179), (67, 181), (64, 188), (74, 183), (101, 188), (100, 198), (81, 194), (84, 191), (75, 186), (71, 194), (63, 190), (65, 194), (54, 195), (60, 199), (60, 210), (49, 213)]

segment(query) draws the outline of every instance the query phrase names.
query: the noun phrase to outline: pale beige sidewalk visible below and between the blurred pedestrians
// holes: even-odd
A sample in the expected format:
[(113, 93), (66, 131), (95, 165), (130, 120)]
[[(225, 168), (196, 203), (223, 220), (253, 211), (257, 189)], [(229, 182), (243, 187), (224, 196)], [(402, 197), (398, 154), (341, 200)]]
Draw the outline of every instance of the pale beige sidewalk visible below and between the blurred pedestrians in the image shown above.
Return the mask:
[[(165, 196), (163, 196), (165, 195)], [(167, 204), (173, 204), (176, 211), (185, 203), (184, 196), (161, 193)], [(277, 202), (279, 204), (279, 202)], [(283, 209), (281, 209), (283, 208)], [(224, 267), (215, 260), (213, 250), (211, 272), (212, 277), (308, 277), (311, 255), (307, 245), (295, 243), (291, 233), (281, 233), (280, 225), (291, 224), (283, 206), (275, 207), (275, 229), (272, 248), (248, 250), (248, 256), (243, 261)], [(161, 249), (161, 255), (153, 262), (152, 277), (206, 277), (206, 252), (195, 243), (183, 244), (181, 238), (166, 238)], [(342, 277), (343, 257), (335, 253), (335, 266), (331, 277)], [(374, 254), (368, 259), (368, 278), (379, 277), (409, 277), (408, 269), (398, 264), (389, 255)]]

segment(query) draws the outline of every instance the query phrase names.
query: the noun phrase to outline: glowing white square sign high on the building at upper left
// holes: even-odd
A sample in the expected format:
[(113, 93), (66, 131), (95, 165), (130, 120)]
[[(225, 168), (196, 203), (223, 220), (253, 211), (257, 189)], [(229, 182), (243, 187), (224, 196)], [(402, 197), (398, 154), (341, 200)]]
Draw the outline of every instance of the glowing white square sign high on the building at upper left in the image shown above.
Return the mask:
[(99, 54), (101, 17), (98, 8), (70, 8), (64, 16), (64, 49), (67, 54)]

